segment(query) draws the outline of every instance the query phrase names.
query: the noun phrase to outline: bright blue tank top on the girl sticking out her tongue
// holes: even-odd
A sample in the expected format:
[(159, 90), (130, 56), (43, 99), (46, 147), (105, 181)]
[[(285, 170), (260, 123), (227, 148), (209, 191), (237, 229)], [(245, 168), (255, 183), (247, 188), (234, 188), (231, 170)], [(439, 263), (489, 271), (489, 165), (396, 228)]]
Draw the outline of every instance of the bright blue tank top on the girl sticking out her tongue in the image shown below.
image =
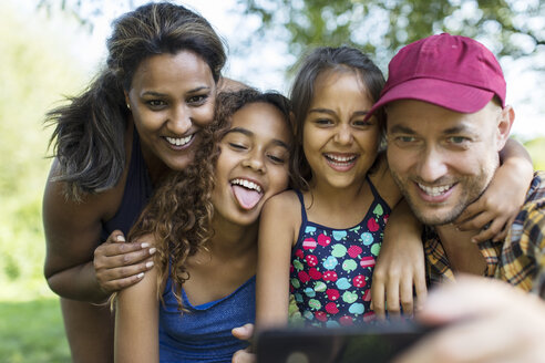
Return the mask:
[(161, 362), (232, 362), (233, 354), (248, 346), (233, 336), (232, 329), (256, 319), (256, 277), (229, 295), (194, 307), (182, 289), (188, 311), (178, 311), (168, 277), (160, 308)]

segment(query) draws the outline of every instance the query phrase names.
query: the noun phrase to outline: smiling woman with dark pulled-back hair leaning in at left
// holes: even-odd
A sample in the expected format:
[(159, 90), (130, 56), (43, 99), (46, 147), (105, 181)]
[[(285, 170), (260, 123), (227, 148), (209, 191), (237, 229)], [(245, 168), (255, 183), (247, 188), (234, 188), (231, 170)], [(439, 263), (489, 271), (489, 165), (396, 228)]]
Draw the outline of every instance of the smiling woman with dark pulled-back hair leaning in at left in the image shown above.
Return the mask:
[(43, 198), (44, 273), (61, 297), (74, 362), (113, 360), (113, 315), (100, 305), (142, 280), (154, 249), (124, 235), (169, 170), (202, 146), (226, 60), (199, 14), (168, 2), (113, 24), (105, 66), (52, 110), (54, 162)]

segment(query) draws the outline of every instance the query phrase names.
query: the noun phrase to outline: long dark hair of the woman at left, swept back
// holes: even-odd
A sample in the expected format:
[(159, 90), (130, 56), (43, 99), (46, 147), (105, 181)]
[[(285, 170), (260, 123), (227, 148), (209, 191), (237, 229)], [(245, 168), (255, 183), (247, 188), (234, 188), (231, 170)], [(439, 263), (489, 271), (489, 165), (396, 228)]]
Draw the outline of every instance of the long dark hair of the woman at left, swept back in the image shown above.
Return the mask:
[(167, 2), (150, 3), (113, 23), (103, 70), (79, 96), (51, 110), (55, 126), (50, 145), (60, 170), (53, 180), (66, 183), (68, 197), (113, 187), (125, 167), (124, 133), (128, 117), (124, 91), (145, 59), (182, 50), (198, 54), (219, 80), (226, 61), (222, 40), (199, 14)]

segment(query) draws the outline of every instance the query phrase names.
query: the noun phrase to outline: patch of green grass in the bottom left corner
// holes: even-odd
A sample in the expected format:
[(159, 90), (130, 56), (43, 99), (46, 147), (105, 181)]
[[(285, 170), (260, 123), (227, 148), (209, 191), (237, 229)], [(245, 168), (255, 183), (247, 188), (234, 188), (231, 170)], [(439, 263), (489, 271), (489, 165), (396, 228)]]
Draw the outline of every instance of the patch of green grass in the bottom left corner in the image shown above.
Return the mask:
[(4, 363), (70, 362), (59, 300), (0, 301), (0, 356)]

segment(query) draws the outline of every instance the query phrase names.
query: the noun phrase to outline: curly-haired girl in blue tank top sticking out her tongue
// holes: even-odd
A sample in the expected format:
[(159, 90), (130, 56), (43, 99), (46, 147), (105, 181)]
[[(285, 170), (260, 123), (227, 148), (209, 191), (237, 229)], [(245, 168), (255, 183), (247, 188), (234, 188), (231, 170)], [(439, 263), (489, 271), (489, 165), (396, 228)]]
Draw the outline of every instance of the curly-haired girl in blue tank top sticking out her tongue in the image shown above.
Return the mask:
[(130, 234), (157, 252), (116, 298), (116, 362), (230, 362), (247, 346), (232, 330), (255, 320), (259, 214), (288, 187), (288, 100), (222, 93), (205, 131), (195, 164), (168, 178)]

